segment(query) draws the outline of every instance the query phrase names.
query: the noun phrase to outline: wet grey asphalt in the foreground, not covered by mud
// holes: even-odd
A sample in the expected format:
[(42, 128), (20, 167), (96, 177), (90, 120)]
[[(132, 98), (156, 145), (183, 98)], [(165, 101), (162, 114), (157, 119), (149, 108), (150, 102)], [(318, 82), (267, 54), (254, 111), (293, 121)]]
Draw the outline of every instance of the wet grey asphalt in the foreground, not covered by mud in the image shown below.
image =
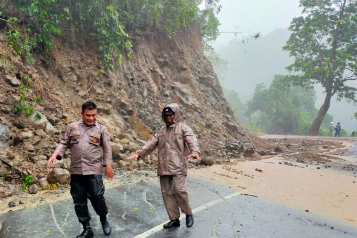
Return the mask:
[[(188, 176), (187, 186), (192, 208), (208, 203), (194, 213), (193, 227), (186, 228), (183, 219), (181, 227), (161, 229), (148, 237), (357, 237), (357, 227), (261, 198), (237, 195), (224, 200), (222, 197), (237, 191), (213, 181)], [(168, 220), (158, 179), (108, 189), (105, 197), (112, 238), (135, 237)], [(219, 202), (209, 204), (212, 201)], [(89, 207), (95, 237), (105, 237), (99, 217)], [(0, 238), (65, 238), (81, 233), (72, 199), (3, 213), (0, 221)]]

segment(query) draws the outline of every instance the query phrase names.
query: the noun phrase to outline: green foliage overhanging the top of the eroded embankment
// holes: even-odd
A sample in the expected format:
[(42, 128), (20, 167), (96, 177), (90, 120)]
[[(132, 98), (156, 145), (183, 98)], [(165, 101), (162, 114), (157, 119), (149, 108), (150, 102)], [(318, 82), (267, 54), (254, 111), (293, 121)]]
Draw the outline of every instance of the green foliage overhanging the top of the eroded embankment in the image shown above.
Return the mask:
[[(199, 5), (204, 2), (205, 9)], [(174, 37), (198, 24), (203, 39), (215, 40), (219, 0), (15, 0), (0, 5), (6, 38), (18, 55), (33, 63), (33, 52), (51, 52), (54, 37), (99, 44), (102, 70), (131, 60), (132, 37), (152, 29)], [(17, 12), (16, 12), (17, 11)], [(16, 13), (14, 13), (16, 12)], [(24, 19), (19, 19), (22, 16)], [(19, 27), (26, 24), (26, 30)], [(204, 41), (207, 42), (207, 41)], [(123, 55), (123, 53), (125, 53)]]

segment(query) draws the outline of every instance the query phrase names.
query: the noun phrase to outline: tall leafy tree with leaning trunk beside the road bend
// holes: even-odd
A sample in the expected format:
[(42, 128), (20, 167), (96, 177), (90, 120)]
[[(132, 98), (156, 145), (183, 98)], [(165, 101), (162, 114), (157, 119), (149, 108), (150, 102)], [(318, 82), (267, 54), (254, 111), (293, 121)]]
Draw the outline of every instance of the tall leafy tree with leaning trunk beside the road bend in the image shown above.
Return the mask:
[(305, 16), (292, 20), (290, 39), (283, 47), (295, 57), (287, 67), (300, 72), (299, 85), (321, 84), (326, 97), (308, 135), (317, 135), (330, 108), (331, 97), (356, 102), (357, 80), (357, 1), (300, 0)]

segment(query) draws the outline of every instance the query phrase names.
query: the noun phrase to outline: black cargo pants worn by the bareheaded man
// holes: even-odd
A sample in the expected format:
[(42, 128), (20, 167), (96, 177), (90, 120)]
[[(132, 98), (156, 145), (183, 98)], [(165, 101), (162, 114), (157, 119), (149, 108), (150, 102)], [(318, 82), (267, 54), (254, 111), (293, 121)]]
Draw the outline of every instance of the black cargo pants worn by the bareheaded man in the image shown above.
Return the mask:
[(91, 216), (88, 211), (88, 198), (92, 203), (94, 211), (100, 216), (105, 217), (108, 208), (104, 199), (104, 184), (101, 174), (71, 174), (71, 195), (74, 202), (79, 222), (90, 221)]

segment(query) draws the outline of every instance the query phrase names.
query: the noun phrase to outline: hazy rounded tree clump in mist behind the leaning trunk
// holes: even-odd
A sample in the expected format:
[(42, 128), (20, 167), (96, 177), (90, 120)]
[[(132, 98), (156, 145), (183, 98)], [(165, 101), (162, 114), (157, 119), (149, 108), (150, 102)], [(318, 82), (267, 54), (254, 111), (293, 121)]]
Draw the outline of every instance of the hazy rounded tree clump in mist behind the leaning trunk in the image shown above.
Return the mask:
[[(256, 86), (246, 104), (245, 125), (270, 134), (306, 135), (317, 114), (315, 100), (312, 88), (294, 85), (291, 76), (276, 75), (269, 88), (263, 83)], [(328, 128), (330, 121), (332, 116), (327, 115), (323, 126)]]

